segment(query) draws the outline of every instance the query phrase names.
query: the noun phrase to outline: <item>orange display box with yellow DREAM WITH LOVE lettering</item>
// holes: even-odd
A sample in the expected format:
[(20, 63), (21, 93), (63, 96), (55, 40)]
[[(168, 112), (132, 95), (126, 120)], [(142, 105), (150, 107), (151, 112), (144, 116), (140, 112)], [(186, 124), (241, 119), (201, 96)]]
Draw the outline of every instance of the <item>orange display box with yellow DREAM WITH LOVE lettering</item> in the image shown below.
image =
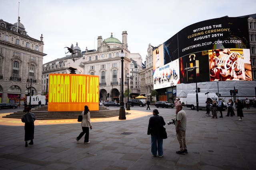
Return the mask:
[(48, 111), (99, 110), (99, 76), (49, 74)]

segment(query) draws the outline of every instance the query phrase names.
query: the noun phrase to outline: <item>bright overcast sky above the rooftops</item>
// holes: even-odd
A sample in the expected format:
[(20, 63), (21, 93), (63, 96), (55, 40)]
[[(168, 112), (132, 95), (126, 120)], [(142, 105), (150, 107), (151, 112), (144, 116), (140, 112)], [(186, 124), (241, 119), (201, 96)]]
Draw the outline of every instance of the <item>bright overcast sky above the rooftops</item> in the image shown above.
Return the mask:
[(144, 61), (149, 43), (158, 46), (188, 25), (256, 13), (256, 0), (0, 0), (0, 19), (16, 23), (18, 2), (28, 35), (43, 34), (43, 63), (64, 57), (71, 44), (97, 49), (98, 36), (113, 33), (122, 42), (122, 31)]

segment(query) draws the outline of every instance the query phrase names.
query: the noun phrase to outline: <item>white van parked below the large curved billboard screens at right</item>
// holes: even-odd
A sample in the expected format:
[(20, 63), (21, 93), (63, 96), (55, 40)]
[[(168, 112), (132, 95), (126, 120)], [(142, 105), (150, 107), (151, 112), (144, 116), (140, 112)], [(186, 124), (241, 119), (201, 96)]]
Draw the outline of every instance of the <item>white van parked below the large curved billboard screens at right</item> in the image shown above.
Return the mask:
[[(215, 100), (217, 103), (219, 102), (218, 100), (218, 96), (214, 93), (208, 93), (208, 94), (204, 94), (204, 93), (198, 93), (198, 108), (199, 109), (206, 109), (206, 100), (210, 100), (210, 102), (212, 102), (212, 100)], [(227, 105), (223, 102), (224, 107), (223, 110), (227, 109)], [(190, 93), (187, 95), (187, 101), (186, 101), (186, 106), (190, 107), (191, 109), (195, 109), (196, 108), (196, 94), (195, 93)]]

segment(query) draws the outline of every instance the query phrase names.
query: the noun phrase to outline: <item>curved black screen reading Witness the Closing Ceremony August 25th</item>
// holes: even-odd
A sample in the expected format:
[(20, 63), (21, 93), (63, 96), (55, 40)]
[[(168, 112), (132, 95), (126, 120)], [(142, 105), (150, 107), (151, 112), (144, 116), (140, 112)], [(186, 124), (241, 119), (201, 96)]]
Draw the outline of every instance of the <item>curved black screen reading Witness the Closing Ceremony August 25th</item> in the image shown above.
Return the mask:
[(179, 57), (211, 49), (250, 49), (247, 18), (223, 17), (194, 23), (178, 32)]

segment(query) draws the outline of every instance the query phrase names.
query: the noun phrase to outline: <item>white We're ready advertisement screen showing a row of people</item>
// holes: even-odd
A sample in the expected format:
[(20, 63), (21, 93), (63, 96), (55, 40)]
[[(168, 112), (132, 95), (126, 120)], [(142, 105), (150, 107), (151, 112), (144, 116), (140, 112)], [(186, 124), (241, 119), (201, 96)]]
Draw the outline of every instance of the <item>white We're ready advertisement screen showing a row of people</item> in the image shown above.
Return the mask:
[(154, 72), (154, 89), (176, 86), (180, 82), (179, 60), (156, 68)]

